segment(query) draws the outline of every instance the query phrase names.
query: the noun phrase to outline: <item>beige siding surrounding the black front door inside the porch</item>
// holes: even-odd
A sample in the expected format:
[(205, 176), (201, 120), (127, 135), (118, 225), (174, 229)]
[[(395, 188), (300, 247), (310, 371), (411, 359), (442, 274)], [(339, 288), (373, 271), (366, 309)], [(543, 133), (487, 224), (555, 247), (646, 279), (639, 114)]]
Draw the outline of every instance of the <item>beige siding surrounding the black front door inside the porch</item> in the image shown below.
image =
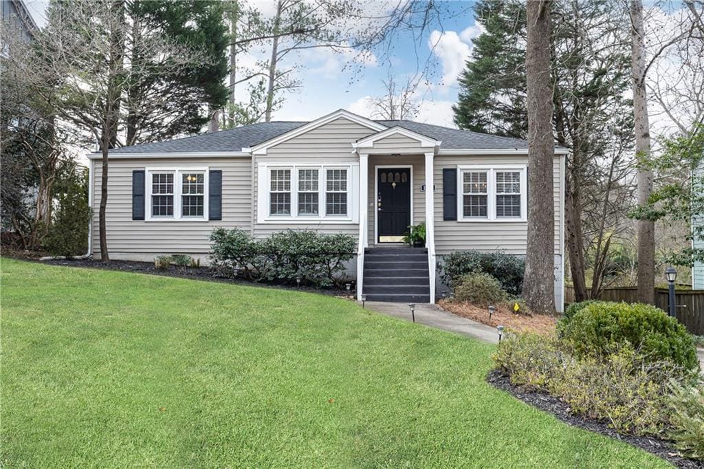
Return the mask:
[(420, 189), (425, 184), (425, 156), (422, 155), (401, 155), (401, 156), (370, 156), (369, 157), (369, 245), (376, 243), (375, 220), (377, 217), (377, 194), (375, 187), (377, 182), (377, 165), (379, 166), (413, 166), (413, 220), (411, 223), (425, 223), (425, 192)]

